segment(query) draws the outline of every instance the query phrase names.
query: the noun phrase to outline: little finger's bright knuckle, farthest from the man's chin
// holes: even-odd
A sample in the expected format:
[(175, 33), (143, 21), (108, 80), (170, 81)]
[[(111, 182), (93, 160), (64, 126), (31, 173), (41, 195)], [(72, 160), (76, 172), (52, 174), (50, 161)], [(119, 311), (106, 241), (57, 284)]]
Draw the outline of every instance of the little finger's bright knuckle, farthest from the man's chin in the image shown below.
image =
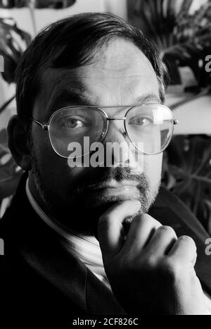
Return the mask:
[(182, 235), (174, 243), (172, 249), (170, 250), (168, 256), (174, 259), (183, 261), (191, 261), (193, 265), (196, 263), (196, 244), (191, 237)]

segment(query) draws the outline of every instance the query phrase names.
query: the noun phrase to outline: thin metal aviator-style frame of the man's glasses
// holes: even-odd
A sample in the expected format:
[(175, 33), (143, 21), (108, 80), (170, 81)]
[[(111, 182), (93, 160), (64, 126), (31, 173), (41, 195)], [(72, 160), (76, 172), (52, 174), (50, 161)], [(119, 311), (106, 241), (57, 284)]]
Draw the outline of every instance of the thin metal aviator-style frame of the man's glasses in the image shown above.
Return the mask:
[[(167, 142), (167, 144), (165, 145), (165, 147), (163, 147), (158, 153), (146, 153), (146, 152), (143, 152), (143, 151), (140, 151), (136, 145), (134, 144), (134, 142), (132, 141), (131, 137), (129, 137), (129, 133), (127, 132), (127, 127), (126, 127), (126, 119), (127, 119), (127, 116), (128, 116), (128, 113), (130, 111), (132, 111), (133, 108), (135, 107), (141, 107), (141, 106), (152, 106), (152, 105), (155, 105), (155, 106), (162, 106), (164, 108), (167, 108), (167, 110), (171, 113), (172, 115), (172, 130), (170, 132), (170, 138)], [(109, 118), (108, 117), (108, 114), (103, 110), (103, 108), (127, 108), (129, 107), (129, 109), (127, 110), (127, 112), (125, 113), (125, 116), (124, 117), (120, 117), (120, 118)], [(174, 119), (173, 117), (173, 113), (172, 111), (170, 110), (170, 108), (168, 108), (167, 106), (165, 105), (162, 105), (162, 104), (137, 104), (137, 105), (122, 105), (122, 106), (86, 106), (86, 105), (82, 105), (82, 106), (79, 106), (79, 105), (75, 105), (75, 106), (65, 106), (63, 108), (59, 108), (57, 111), (53, 112), (49, 118), (49, 121), (48, 123), (41, 123), (39, 122), (38, 120), (34, 119), (34, 118), (29, 118), (30, 120), (32, 120), (34, 123), (37, 123), (43, 130), (47, 130), (48, 131), (48, 135), (49, 135), (49, 142), (51, 144), (51, 147), (53, 148), (53, 151), (56, 152), (56, 154), (58, 156), (60, 156), (61, 158), (63, 159), (68, 159), (68, 156), (62, 156), (61, 154), (58, 153), (58, 151), (56, 151), (56, 149), (53, 147), (53, 143), (51, 142), (51, 136), (50, 136), (50, 125), (51, 125), (51, 121), (53, 120), (54, 116), (56, 116), (56, 114), (60, 111), (63, 111), (67, 108), (94, 108), (98, 111), (100, 111), (102, 114), (103, 114), (103, 117), (105, 118), (106, 120), (106, 129), (104, 130), (103, 129), (103, 132), (101, 133), (101, 137), (100, 139), (97, 141), (97, 142), (102, 142), (103, 139), (105, 139), (106, 135), (107, 135), (107, 132), (108, 132), (108, 128), (109, 128), (109, 121), (114, 121), (114, 120), (124, 120), (124, 137), (126, 137), (129, 142), (132, 142), (132, 144), (134, 145), (135, 149), (137, 149), (137, 151), (139, 151), (140, 153), (142, 154), (146, 154), (146, 155), (157, 155), (157, 154), (160, 154), (162, 153), (163, 151), (165, 151), (165, 149), (168, 147), (168, 145), (170, 144), (170, 141), (172, 139), (172, 135), (173, 135), (173, 132), (174, 132), (174, 125), (178, 125), (178, 120), (177, 119)], [(83, 154), (83, 156), (86, 155), (86, 154)]]

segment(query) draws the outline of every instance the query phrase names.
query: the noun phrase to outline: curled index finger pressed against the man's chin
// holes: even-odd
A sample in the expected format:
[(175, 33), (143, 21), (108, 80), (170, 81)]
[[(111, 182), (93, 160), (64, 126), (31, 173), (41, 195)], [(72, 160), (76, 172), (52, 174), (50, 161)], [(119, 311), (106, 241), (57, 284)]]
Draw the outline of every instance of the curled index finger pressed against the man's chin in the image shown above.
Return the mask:
[(124, 244), (122, 222), (139, 211), (139, 201), (124, 201), (110, 207), (98, 222), (98, 240), (104, 259), (115, 256)]

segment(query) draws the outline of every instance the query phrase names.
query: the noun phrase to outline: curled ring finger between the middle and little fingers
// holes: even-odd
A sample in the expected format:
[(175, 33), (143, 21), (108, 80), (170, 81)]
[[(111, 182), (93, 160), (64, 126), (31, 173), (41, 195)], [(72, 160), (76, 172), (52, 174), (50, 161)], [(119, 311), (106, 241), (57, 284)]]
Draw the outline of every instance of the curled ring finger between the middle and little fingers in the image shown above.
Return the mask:
[(177, 235), (170, 226), (160, 226), (146, 246), (146, 254), (153, 255), (155, 258), (162, 257), (172, 248), (177, 241)]

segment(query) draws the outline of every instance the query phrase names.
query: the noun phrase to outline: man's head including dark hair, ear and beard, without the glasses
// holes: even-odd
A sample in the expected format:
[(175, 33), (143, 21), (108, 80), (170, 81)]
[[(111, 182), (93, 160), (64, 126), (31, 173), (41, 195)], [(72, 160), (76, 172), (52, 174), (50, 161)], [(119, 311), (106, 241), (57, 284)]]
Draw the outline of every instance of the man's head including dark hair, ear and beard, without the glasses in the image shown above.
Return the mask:
[[(127, 168), (70, 168), (53, 150), (48, 132), (27, 118), (48, 125), (60, 108), (82, 105), (122, 118), (134, 104), (162, 103), (164, 79), (153, 46), (113, 15), (65, 18), (32, 41), (16, 73), (18, 116), (8, 128), (9, 145), (19, 166), (30, 172), (32, 194), (60, 225), (92, 234), (98, 216), (125, 199), (139, 199), (147, 212), (158, 194), (162, 153), (144, 154), (140, 170), (128, 159)], [(124, 142), (124, 128), (122, 120), (110, 120), (103, 145)], [(62, 142), (63, 133), (59, 138)]]

